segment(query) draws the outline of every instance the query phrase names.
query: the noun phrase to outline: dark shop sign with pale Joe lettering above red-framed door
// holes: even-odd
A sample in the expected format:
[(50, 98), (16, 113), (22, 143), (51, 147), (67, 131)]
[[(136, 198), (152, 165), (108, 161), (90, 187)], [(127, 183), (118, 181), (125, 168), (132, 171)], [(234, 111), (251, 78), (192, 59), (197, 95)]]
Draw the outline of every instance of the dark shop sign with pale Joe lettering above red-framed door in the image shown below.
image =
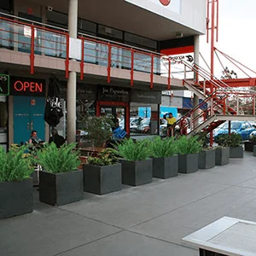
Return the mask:
[(104, 102), (130, 102), (130, 90), (119, 87), (102, 86), (98, 90), (98, 100)]

